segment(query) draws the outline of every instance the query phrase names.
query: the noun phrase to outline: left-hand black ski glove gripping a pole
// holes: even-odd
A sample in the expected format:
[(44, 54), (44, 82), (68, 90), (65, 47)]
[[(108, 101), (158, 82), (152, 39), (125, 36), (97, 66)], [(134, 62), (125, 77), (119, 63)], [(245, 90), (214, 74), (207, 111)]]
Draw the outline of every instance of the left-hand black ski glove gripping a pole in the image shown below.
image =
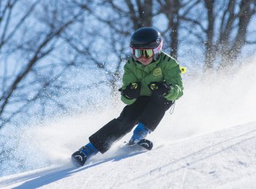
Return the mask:
[(127, 85), (127, 88), (125, 88), (124, 90), (119, 88), (119, 91), (121, 92), (122, 96), (128, 99), (138, 98), (140, 96), (140, 83), (129, 83), (129, 85)]

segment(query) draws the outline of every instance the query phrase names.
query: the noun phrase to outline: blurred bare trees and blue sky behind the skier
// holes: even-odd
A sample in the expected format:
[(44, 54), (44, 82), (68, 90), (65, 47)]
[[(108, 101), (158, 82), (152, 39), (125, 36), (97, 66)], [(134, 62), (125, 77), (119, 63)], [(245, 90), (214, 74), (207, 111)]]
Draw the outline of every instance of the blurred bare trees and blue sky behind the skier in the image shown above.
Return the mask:
[[(1, 1), (0, 127), (21, 114), (75, 109), (63, 97), (74, 91), (107, 85), (115, 96), (131, 56), (129, 38), (141, 27), (159, 26), (164, 49), (177, 59), (180, 44), (196, 45), (204, 70), (236, 64), (244, 46), (255, 43), (248, 33), (255, 1)], [(71, 85), (66, 80), (76, 68), (100, 77)]]

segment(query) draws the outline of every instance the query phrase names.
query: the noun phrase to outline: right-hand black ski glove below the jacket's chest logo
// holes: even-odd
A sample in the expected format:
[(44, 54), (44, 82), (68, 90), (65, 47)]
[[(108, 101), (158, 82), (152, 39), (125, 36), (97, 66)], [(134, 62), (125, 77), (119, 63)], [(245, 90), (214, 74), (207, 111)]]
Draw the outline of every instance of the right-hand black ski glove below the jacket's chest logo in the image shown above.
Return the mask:
[(148, 88), (151, 89), (153, 96), (167, 96), (171, 92), (171, 85), (166, 82), (151, 82)]

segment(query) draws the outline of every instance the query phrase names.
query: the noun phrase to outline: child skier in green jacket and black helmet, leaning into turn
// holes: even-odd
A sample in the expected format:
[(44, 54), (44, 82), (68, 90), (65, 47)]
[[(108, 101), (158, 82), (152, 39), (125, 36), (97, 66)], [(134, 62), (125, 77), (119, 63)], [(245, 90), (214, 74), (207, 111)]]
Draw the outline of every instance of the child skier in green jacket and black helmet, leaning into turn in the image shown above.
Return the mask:
[(135, 125), (129, 145), (138, 143), (153, 132), (175, 100), (183, 96), (183, 83), (177, 61), (161, 51), (163, 41), (154, 28), (140, 28), (130, 40), (132, 58), (124, 65), (120, 116), (89, 137), (89, 143), (72, 154), (81, 166), (129, 133)]

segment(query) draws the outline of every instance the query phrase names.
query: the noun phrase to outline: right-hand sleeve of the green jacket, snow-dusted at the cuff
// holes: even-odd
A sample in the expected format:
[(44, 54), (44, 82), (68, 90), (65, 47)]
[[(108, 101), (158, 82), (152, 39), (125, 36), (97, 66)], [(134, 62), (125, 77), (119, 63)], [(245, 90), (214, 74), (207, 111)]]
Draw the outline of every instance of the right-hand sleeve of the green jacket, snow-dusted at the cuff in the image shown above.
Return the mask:
[(183, 80), (180, 65), (175, 59), (172, 59), (172, 62), (167, 62), (164, 67), (164, 80), (171, 85), (171, 92), (165, 96), (168, 101), (175, 101), (183, 96)]

